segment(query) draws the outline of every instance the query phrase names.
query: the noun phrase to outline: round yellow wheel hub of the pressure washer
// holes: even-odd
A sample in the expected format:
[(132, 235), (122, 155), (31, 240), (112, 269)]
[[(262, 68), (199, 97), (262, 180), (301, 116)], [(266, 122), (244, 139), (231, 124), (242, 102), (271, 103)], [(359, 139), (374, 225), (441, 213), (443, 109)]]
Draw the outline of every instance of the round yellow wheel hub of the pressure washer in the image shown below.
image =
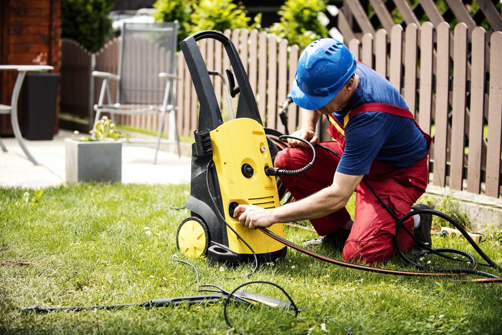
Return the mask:
[(199, 257), (204, 253), (207, 237), (204, 229), (195, 220), (186, 221), (178, 233), (180, 251), (189, 257)]

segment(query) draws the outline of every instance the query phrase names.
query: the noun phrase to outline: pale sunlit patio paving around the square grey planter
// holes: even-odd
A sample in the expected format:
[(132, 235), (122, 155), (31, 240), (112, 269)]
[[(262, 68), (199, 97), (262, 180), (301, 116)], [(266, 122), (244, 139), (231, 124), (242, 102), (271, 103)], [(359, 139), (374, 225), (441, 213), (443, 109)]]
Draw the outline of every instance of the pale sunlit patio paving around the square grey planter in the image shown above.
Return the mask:
[[(8, 152), (0, 150), (0, 187), (43, 188), (65, 184), (64, 139), (73, 132), (60, 130), (52, 141), (25, 140), (28, 150), (41, 164), (33, 165), (14, 137), (2, 137)], [(122, 146), (122, 183), (172, 184), (190, 181), (189, 157), (140, 145)]]

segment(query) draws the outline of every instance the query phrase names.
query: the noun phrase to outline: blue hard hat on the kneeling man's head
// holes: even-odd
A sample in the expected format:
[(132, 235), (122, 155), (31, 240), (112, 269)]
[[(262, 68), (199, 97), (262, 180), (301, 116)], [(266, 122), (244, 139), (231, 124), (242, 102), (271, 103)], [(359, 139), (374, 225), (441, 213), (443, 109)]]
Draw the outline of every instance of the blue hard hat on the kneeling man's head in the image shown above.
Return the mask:
[(347, 47), (332, 38), (312, 42), (300, 55), (291, 95), (305, 109), (325, 106), (355, 72), (357, 61)]

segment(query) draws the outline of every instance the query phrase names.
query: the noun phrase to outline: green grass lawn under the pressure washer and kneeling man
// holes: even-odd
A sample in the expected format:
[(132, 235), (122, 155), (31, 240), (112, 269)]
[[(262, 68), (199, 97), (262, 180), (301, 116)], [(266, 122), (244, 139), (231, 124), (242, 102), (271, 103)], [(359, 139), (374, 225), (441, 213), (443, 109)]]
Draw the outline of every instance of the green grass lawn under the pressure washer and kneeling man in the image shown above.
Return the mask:
[[(78, 184), (44, 189), (0, 188), (0, 333), (7, 334), (500, 334), (502, 287), (455, 278), (400, 277), (330, 265), (288, 250), (261, 267), (211, 266), (176, 248), (189, 212), (189, 185)], [(301, 244), (310, 230), (285, 227)], [(481, 244), (502, 264), (500, 232)], [(472, 252), (462, 239), (434, 236), (435, 247)], [(338, 251), (316, 251), (340, 258)], [(477, 257), (477, 255), (475, 255)], [(246, 281), (272, 281), (302, 309), (223, 303), (162, 308), (34, 313), (21, 307), (139, 303), (199, 292), (200, 284), (232, 290)], [(381, 265), (415, 271), (401, 259)], [(483, 267), (481, 270), (501, 275)], [(467, 277), (463, 277), (467, 278)], [(474, 278), (474, 277), (469, 277)], [(271, 285), (242, 290), (286, 297)]]

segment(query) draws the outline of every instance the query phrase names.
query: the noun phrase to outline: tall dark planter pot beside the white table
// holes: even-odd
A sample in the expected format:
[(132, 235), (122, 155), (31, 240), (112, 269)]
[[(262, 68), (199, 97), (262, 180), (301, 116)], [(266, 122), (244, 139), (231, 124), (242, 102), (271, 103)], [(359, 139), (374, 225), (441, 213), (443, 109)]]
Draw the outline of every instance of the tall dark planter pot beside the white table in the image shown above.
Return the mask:
[(58, 73), (26, 75), (23, 83), (23, 133), (27, 140), (53, 139), (58, 82)]

